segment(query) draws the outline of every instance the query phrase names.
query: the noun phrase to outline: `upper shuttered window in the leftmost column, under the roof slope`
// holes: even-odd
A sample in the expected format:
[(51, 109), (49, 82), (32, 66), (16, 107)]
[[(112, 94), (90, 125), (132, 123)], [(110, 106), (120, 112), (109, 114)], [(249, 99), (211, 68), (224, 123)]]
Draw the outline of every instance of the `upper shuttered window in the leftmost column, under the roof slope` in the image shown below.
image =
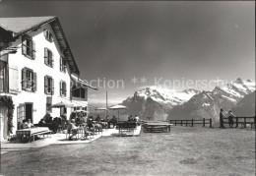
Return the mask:
[(32, 41), (32, 37), (29, 35), (23, 35), (23, 54), (30, 58), (35, 59), (35, 44), (34, 41)]

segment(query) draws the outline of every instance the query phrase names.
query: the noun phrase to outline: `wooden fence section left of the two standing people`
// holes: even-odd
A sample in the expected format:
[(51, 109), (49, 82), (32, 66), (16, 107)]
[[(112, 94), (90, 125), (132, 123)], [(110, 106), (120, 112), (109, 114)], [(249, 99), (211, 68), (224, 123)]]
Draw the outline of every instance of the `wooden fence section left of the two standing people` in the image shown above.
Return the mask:
[(212, 119), (205, 119), (203, 118), (202, 120), (194, 120), (194, 119), (190, 119), (190, 120), (169, 120), (170, 124), (174, 124), (175, 126), (177, 125), (185, 125), (193, 127), (196, 124), (201, 124), (203, 125), (203, 127), (205, 127), (206, 125), (209, 125), (209, 127), (212, 127), (213, 121)]

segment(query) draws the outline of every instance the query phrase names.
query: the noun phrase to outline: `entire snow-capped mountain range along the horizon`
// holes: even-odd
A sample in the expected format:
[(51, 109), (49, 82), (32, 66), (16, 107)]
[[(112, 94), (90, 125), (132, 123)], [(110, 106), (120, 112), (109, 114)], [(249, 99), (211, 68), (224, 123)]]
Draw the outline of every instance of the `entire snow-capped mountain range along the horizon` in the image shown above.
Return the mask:
[[(217, 123), (221, 108), (225, 111), (239, 109), (239, 115), (255, 115), (255, 110), (252, 109), (255, 109), (255, 105), (248, 105), (253, 99), (250, 93), (255, 93), (255, 82), (237, 78), (223, 87), (215, 87), (212, 90), (145, 87), (136, 90), (133, 96), (127, 97), (118, 104), (128, 107), (122, 112), (123, 116), (139, 115), (141, 119), (151, 117), (154, 120), (212, 118), (213, 122)], [(250, 100), (243, 100), (245, 96), (246, 99), (250, 97)], [(242, 105), (236, 108), (235, 105), (242, 100), (244, 101)], [(105, 104), (102, 103), (101, 106), (105, 107)]]

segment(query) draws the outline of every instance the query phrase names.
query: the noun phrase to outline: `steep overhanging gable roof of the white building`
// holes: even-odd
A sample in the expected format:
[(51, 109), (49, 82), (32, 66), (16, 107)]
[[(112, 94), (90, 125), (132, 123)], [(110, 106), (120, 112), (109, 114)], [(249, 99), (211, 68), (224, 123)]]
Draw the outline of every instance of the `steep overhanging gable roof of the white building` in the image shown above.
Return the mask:
[(0, 18), (0, 28), (5, 29), (6, 31), (11, 31), (13, 33), (13, 39), (16, 39), (20, 35), (30, 32), (33, 29), (38, 29), (45, 24), (51, 25), (60, 45), (60, 49), (69, 64), (71, 73), (79, 75), (80, 72), (78, 66), (57, 17)]

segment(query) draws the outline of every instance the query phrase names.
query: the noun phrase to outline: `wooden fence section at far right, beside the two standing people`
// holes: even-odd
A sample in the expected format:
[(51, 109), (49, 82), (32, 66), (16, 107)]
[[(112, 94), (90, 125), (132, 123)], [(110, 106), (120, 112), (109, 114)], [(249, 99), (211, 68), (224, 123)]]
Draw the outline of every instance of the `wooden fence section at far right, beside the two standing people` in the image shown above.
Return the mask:
[[(224, 118), (224, 124), (228, 124), (228, 118)], [(256, 124), (256, 117), (233, 117), (234, 128), (238, 128), (238, 125), (241, 124), (241, 128), (246, 128), (246, 125), (251, 125), (251, 128)]]

